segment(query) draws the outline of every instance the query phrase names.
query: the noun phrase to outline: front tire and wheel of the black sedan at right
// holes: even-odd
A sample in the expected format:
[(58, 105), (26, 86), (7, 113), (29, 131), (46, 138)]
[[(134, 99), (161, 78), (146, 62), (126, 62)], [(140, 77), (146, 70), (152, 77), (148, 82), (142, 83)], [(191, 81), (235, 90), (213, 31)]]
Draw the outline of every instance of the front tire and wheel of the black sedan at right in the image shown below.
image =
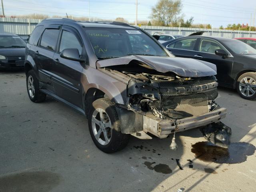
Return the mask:
[(236, 82), (238, 94), (248, 100), (256, 99), (256, 72), (242, 74)]

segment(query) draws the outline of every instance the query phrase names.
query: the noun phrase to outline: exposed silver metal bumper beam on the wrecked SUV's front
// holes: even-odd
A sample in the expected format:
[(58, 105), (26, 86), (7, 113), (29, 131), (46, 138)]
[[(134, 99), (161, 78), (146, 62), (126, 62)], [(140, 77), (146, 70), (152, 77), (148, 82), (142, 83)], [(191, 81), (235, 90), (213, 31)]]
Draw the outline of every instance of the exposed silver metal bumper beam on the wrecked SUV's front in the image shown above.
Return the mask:
[[(202, 115), (178, 119), (175, 132), (206, 126), (210, 123), (220, 122), (226, 116), (226, 108), (219, 108)], [(155, 116), (143, 116), (143, 131), (150, 132), (159, 138), (165, 138), (175, 130), (175, 123), (170, 119), (156, 118)]]

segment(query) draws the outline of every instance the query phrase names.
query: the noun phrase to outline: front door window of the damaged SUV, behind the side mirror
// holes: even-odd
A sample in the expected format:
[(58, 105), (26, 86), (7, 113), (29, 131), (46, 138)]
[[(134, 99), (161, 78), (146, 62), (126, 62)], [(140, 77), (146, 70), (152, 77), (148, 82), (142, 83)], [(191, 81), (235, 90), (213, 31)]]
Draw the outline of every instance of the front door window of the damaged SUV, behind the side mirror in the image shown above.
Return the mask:
[(76, 36), (68, 31), (63, 30), (62, 31), (62, 36), (60, 40), (60, 52), (62, 50), (67, 49), (67, 48), (77, 48), (79, 51), (79, 54), (82, 54), (82, 46)]

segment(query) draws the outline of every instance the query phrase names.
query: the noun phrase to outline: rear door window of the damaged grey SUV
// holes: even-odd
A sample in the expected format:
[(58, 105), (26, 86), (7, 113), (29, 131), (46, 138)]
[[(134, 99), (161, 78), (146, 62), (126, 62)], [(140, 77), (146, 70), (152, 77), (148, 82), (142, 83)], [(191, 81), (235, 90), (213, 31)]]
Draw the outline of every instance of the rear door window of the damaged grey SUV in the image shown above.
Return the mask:
[(59, 29), (45, 29), (42, 34), (40, 46), (54, 51), (59, 36)]

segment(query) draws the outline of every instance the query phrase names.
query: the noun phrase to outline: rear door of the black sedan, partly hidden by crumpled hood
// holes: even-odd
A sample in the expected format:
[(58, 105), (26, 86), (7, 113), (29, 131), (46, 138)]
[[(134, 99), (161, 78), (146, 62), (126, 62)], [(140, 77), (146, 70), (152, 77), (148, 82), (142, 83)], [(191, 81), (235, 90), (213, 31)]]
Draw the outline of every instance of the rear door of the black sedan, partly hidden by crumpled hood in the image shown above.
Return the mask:
[(177, 57), (193, 58), (198, 38), (182, 38), (167, 45), (166, 48)]

